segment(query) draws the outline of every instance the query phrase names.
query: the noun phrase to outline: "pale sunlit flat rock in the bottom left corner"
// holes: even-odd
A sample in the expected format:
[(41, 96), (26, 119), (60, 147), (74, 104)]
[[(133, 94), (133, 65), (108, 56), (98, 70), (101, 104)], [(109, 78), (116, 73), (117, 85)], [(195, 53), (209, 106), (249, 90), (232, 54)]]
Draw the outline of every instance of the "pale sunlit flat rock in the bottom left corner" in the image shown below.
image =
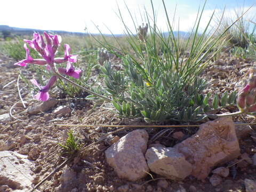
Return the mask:
[(31, 166), (33, 163), (27, 159), (26, 155), (0, 151), (0, 186), (5, 186), (3, 191), (31, 191), (33, 181), (30, 174)]

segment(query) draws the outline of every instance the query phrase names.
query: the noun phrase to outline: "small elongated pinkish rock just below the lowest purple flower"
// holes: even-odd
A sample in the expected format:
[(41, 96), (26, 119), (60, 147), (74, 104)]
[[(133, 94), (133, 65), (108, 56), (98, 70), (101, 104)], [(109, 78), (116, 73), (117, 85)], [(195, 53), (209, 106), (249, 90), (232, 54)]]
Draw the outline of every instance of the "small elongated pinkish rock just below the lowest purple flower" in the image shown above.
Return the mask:
[(57, 104), (57, 100), (55, 98), (51, 98), (45, 102), (42, 102), (41, 104), (37, 106), (32, 106), (28, 108), (28, 114), (29, 115), (36, 115), (42, 112), (46, 112), (47, 110), (50, 110)]

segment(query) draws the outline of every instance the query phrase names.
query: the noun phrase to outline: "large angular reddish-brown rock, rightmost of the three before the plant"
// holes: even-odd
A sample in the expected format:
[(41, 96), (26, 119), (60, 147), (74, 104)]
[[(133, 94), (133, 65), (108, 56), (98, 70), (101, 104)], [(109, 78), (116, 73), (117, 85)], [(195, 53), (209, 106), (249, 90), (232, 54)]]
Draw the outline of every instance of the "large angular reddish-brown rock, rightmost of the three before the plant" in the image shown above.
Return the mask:
[(231, 117), (201, 124), (196, 134), (178, 143), (175, 149), (193, 165), (191, 175), (205, 179), (212, 168), (240, 155), (235, 125)]

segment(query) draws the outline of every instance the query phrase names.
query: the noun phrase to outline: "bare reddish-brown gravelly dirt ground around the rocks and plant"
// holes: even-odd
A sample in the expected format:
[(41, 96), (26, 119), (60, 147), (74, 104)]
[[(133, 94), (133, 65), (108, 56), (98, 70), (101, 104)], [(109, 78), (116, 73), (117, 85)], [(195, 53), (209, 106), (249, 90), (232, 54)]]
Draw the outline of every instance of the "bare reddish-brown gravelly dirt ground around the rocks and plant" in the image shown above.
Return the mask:
[[(8, 140), (13, 143), (9, 150), (17, 151), (20, 154), (27, 155), (35, 147), (39, 149), (39, 153), (33, 159), (35, 167), (32, 171), (35, 177), (33, 181), (35, 185), (65, 161), (66, 157), (61, 155), (61, 147), (58, 142), (63, 143), (65, 141), (67, 130), (73, 130), (84, 149), (91, 143), (98, 141), (104, 133), (115, 130), (115, 128), (111, 127), (71, 127), (57, 124), (145, 124), (141, 119), (133, 119), (131, 121), (118, 118), (117, 115), (106, 109), (106, 104), (92, 108), (93, 102), (74, 99), (59, 99), (57, 105), (49, 111), (38, 115), (28, 115), (20, 102), (17, 78), (19, 70), (22, 70), (29, 79), (33, 74), (29, 74), (28, 70), (26, 71), (20, 67), (14, 67), (13, 63), (12, 59), (0, 54), (0, 115), (10, 113), (10, 111), (13, 115), (9, 122), (0, 124), (0, 140)], [(241, 85), (239, 84), (241, 79), (248, 77), (249, 70), (253, 65), (255, 65), (253, 61), (232, 58), (228, 53), (223, 52), (221, 59), (212, 62), (202, 74), (202, 76), (209, 79), (210, 83), (210, 88), (206, 92), (223, 93), (226, 90), (234, 90)], [(26, 103), (26, 108), (39, 104), (38, 101), (31, 97), (31, 93), (26, 89), (22, 81), (19, 81), (18, 85), (21, 97)], [(69, 106), (71, 113), (66, 115), (53, 114), (53, 110), (60, 105)], [(237, 109), (230, 108), (228, 110), (233, 112)], [(240, 116), (235, 117), (234, 121), (249, 123), (252, 119)], [(252, 128), (254, 129), (254, 126)], [(149, 140), (158, 131), (163, 130), (145, 129), (149, 132)], [(184, 127), (172, 129), (171, 131), (182, 131), (189, 136), (195, 133), (196, 129), (191, 130)], [(117, 135), (122, 137), (127, 132), (129, 130), (118, 132)], [(167, 133), (154, 142), (159, 142), (167, 147), (180, 142), (171, 137), (168, 138), (166, 135)], [(256, 151), (256, 143), (250, 135), (245, 138), (239, 138), (239, 144), (241, 154), (247, 153), (252, 157)], [(256, 180), (255, 167), (250, 164), (237, 164), (235, 169), (232, 170), (233, 172), (216, 187), (209, 182), (211, 175), (204, 181), (198, 181), (194, 177), (188, 177), (183, 181), (167, 180), (169, 183), (167, 187), (161, 187), (157, 180), (159, 176), (154, 173), (137, 182), (129, 182), (119, 179), (113, 169), (106, 163), (104, 150), (108, 146), (109, 142), (107, 140), (96, 143), (92, 148), (84, 150), (79, 157), (69, 162), (63, 169), (74, 171), (77, 179), (66, 188), (59, 189), (59, 191), (245, 191), (244, 179)], [(223, 166), (228, 166), (228, 164)], [(60, 185), (60, 175), (63, 169), (60, 169), (47, 179), (39, 186), (37, 191), (55, 191), (55, 188)], [(152, 180), (151, 176), (153, 176), (154, 180)]]

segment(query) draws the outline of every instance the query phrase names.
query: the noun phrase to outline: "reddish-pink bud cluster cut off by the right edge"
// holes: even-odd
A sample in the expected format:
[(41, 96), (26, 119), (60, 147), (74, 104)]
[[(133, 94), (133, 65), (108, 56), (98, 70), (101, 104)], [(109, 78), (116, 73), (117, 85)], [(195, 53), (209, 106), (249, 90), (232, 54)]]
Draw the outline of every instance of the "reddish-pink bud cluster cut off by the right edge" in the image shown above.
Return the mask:
[(256, 76), (251, 76), (248, 83), (238, 93), (237, 106), (245, 113), (256, 112)]

